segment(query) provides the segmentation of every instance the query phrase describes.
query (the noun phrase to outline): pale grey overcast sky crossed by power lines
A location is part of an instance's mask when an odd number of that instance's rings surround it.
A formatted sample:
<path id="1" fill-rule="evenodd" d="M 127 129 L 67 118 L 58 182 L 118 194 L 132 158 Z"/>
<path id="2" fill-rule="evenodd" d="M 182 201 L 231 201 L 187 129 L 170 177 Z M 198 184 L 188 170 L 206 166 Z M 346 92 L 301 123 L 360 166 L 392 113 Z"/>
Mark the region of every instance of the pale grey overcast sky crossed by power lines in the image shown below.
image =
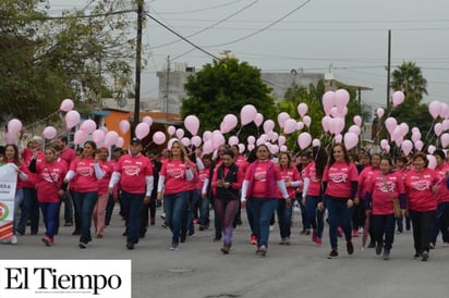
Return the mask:
<path id="1" fill-rule="evenodd" d="M 50 0 L 50 14 L 89 2 Z M 449 103 L 448 0 L 146 0 L 145 7 L 211 54 L 229 50 L 264 72 L 330 71 L 336 79 L 373 88 L 362 95 L 373 107 L 387 101 L 391 29 L 392 70 L 414 61 L 428 83 L 425 100 Z M 211 61 L 151 20 L 144 42 L 142 97 L 157 97 L 156 72 L 168 55 L 196 67 Z"/>

